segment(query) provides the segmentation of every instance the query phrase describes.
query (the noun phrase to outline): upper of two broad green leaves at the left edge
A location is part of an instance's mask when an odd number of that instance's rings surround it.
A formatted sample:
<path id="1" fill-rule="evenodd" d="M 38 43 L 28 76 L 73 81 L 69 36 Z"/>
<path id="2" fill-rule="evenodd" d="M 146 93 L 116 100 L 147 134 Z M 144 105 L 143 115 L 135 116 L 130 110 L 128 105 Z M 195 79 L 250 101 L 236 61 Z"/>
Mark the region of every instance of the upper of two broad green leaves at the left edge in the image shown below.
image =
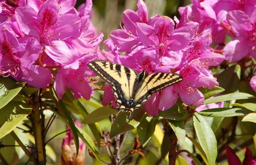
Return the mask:
<path id="1" fill-rule="evenodd" d="M 24 85 L 25 82 L 16 82 L 10 77 L 0 76 L 0 109 L 8 104 Z"/>

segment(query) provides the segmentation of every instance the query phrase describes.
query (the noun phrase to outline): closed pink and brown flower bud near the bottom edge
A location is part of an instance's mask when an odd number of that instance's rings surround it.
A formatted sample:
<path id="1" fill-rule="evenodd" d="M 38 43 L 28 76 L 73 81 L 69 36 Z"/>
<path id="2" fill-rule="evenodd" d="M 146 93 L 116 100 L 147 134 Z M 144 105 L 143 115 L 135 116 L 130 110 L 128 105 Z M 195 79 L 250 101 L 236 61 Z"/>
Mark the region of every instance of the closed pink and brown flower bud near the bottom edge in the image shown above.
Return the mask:
<path id="1" fill-rule="evenodd" d="M 75 124 L 80 128 L 82 127 L 77 121 L 75 121 Z M 68 129 L 70 128 L 68 127 Z M 76 156 L 76 145 L 70 130 L 67 131 L 66 136 L 63 138 L 61 151 L 62 165 L 83 165 L 85 162 L 85 143 L 79 138 L 79 150 Z"/>

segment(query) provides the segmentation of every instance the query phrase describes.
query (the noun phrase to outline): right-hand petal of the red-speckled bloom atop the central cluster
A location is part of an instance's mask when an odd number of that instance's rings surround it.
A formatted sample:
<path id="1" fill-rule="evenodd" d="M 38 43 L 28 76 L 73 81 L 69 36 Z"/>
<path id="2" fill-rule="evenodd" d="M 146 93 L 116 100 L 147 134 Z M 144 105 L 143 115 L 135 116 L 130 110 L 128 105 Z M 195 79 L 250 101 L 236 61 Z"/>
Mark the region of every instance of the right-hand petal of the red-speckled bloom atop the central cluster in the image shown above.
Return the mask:
<path id="1" fill-rule="evenodd" d="M 188 27 L 181 27 L 175 29 L 173 35 L 170 37 L 170 42 L 168 43 L 168 47 L 171 47 L 172 51 L 178 51 L 186 47 L 193 37 L 193 29 Z"/>

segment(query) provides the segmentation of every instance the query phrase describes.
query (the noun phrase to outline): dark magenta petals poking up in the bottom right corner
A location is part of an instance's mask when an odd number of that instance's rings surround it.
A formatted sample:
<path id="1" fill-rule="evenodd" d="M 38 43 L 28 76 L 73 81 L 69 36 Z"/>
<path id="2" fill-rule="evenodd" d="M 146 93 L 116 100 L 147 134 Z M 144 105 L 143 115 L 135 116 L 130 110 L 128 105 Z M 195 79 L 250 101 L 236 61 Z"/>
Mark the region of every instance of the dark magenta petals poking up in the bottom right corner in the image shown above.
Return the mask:
<path id="1" fill-rule="evenodd" d="M 236 153 L 230 148 L 228 145 L 225 146 L 227 151 L 227 161 L 229 165 L 256 165 L 256 160 L 254 160 L 254 157 L 251 153 L 251 150 L 249 148 L 246 148 L 245 152 L 245 158 L 243 163 L 239 160 L 239 158 L 236 156 Z"/>

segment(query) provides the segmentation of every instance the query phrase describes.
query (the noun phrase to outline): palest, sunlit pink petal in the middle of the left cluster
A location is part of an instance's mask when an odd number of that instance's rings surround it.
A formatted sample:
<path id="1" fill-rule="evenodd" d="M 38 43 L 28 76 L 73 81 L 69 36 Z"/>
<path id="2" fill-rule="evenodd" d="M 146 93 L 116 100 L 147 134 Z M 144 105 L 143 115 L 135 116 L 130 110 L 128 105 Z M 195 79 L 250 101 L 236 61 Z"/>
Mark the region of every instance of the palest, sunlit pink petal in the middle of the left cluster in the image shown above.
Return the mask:
<path id="1" fill-rule="evenodd" d="M 60 64 L 71 64 L 79 56 L 76 48 L 64 41 L 56 40 L 52 42 L 52 45 L 54 46 L 45 46 L 45 52 Z"/>

